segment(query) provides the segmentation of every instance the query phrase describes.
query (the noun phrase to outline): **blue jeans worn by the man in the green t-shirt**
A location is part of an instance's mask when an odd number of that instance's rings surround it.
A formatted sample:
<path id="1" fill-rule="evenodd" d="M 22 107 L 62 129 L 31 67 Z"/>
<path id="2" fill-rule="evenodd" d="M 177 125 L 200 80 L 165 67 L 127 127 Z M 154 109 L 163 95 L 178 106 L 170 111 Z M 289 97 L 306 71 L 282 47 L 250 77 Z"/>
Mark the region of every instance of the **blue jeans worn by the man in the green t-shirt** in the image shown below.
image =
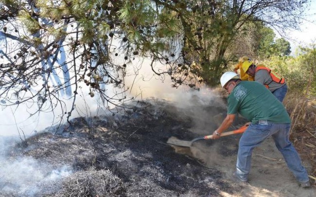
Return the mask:
<path id="1" fill-rule="evenodd" d="M 289 141 L 291 124 L 276 124 L 269 121 L 259 121 L 251 124 L 239 141 L 236 174 L 246 181 L 250 172 L 251 153 L 266 138 L 272 136 L 278 150 L 299 182 L 309 181 L 306 169 L 302 166 L 298 152 Z"/>

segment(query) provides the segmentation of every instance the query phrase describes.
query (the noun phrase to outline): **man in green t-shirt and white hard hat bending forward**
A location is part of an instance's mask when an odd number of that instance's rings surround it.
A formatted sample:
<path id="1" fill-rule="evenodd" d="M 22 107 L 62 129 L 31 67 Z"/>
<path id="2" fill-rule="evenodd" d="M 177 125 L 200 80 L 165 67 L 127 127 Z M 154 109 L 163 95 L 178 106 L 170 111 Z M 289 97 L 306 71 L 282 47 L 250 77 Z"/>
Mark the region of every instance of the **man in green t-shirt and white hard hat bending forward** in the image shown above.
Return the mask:
<path id="1" fill-rule="evenodd" d="M 234 179 L 243 182 L 248 180 L 253 148 L 271 136 L 300 185 L 310 187 L 307 171 L 289 141 L 291 119 L 282 103 L 262 84 L 241 81 L 235 72 L 225 72 L 221 77 L 221 85 L 229 93 L 228 114 L 213 132 L 213 139 L 220 137 L 238 113 L 251 122 L 239 141 Z"/>

